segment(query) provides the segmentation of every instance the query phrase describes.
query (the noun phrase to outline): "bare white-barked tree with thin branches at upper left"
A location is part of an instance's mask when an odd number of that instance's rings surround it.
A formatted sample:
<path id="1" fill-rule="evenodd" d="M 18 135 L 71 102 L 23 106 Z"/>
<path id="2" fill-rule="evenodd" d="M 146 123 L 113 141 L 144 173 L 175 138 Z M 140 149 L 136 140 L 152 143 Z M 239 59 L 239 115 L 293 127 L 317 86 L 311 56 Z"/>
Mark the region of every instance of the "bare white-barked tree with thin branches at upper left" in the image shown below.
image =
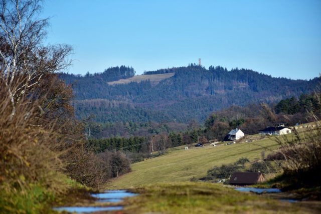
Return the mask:
<path id="1" fill-rule="evenodd" d="M 0 0 L 0 81 L 12 105 L 30 94 L 47 73 L 70 65 L 68 45 L 45 46 L 48 19 L 40 19 L 41 0 Z"/>

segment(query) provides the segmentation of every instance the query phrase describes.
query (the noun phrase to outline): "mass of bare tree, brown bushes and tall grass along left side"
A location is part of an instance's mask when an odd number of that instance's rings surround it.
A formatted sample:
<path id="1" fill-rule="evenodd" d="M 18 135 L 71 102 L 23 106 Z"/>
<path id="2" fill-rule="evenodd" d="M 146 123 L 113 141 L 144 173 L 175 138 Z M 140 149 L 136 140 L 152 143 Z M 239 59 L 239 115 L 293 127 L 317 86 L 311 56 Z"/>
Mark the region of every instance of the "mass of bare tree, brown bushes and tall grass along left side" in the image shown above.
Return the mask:
<path id="1" fill-rule="evenodd" d="M 2 213 L 44 212 L 46 202 L 71 187 L 63 173 L 97 187 L 112 176 L 113 157 L 119 173 L 129 170 L 123 155 L 106 154 L 111 159 L 104 161 L 85 148 L 83 123 L 73 117 L 72 89 L 54 73 L 69 65 L 71 49 L 43 46 L 48 23 L 37 19 L 40 2 L 0 1 Z"/>

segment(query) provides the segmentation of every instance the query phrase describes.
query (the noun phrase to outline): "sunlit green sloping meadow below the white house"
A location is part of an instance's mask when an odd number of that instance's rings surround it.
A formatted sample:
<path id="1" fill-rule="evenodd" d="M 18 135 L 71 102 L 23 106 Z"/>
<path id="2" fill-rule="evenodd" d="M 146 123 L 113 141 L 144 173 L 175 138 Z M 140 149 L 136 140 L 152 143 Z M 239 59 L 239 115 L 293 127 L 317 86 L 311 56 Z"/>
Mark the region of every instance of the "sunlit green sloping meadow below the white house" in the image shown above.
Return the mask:
<path id="1" fill-rule="evenodd" d="M 292 137 L 292 134 L 289 137 Z M 205 176 L 207 170 L 213 166 L 233 163 L 241 157 L 246 157 L 250 161 L 259 160 L 262 151 L 265 151 L 265 155 L 267 155 L 278 147 L 275 137 L 267 137 L 232 145 L 208 145 L 188 150 L 170 150 L 163 156 L 132 164 L 130 173 L 114 179 L 111 182 L 112 186 L 107 188 L 128 188 L 159 182 L 189 181 L 192 177 Z"/>

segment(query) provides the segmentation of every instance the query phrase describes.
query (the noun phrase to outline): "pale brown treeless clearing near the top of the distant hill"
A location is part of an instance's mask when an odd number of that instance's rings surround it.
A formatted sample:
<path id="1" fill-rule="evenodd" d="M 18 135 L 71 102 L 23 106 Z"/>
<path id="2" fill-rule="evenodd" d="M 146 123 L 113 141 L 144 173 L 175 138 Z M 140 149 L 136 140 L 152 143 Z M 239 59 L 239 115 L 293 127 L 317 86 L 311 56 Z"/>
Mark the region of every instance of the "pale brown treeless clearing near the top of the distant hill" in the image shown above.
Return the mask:
<path id="1" fill-rule="evenodd" d="M 139 83 L 139 82 L 145 81 L 145 80 L 149 80 L 152 85 L 157 85 L 162 80 L 165 80 L 165 79 L 168 79 L 170 77 L 173 77 L 174 75 L 175 75 L 175 73 L 152 74 L 152 75 L 137 75 L 137 76 L 133 76 L 133 77 L 128 78 L 128 79 L 121 79 L 121 80 L 118 80 L 118 81 L 109 82 L 108 85 L 127 84 L 127 83 L 130 83 L 130 82 Z"/>

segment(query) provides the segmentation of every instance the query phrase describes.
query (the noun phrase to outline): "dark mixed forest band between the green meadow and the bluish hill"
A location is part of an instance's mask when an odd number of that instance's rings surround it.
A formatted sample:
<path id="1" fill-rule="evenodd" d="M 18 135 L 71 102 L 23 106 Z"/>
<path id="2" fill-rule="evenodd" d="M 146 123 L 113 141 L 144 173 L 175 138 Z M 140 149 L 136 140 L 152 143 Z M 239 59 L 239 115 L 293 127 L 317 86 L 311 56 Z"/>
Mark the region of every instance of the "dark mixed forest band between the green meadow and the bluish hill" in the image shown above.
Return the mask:
<path id="1" fill-rule="evenodd" d="M 197 142 L 209 143 L 211 140 L 223 140 L 226 134 L 235 128 L 241 129 L 245 134 L 257 134 L 260 129 L 277 123 L 292 126 L 296 123 L 311 122 L 315 117 L 320 118 L 321 105 L 318 101 L 320 98 L 320 94 L 312 93 L 302 94 L 299 99 L 286 98 L 273 105 L 252 103 L 244 107 L 231 106 L 213 112 L 204 124 L 191 121 L 186 126 L 181 125 L 180 129 L 173 127 L 179 125 L 175 123 L 168 125 L 167 123 L 120 122 L 108 123 L 105 126 L 89 123 L 88 128 L 91 127 L 92 136 L 88 146 L 96 152 L 120 150 L 127 153 L 140 153 L 140 157 L 145 157 L 152 151 L 162 153 L 168 148 L 177 146 L 193 146 Z M 294 107 L 296 112 L 288 111 Z"/>

